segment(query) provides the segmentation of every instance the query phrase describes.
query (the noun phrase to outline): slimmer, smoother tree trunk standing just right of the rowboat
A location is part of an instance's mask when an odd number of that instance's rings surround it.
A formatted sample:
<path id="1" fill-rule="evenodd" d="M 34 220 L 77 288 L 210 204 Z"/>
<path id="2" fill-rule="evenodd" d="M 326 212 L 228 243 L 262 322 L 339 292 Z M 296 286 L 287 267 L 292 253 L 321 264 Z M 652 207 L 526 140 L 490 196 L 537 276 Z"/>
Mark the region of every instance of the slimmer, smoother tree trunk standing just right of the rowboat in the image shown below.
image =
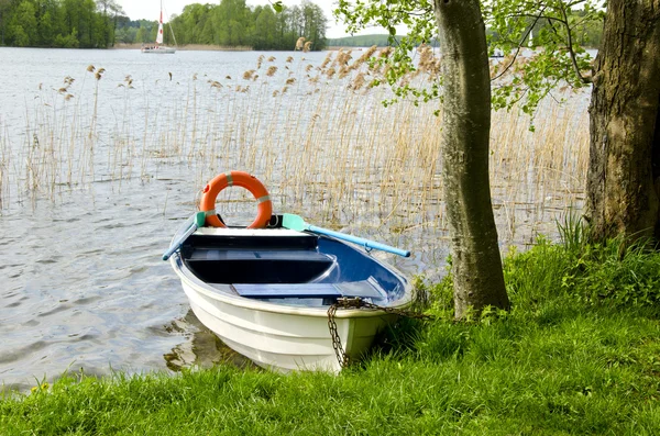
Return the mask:
<path id="1" fill-rule="evenodd" d="M 491 77 L 479 0 L 435 0 L 444 104 L 442 172 L 451 235 L 455 317 L 508 309 L 491 204 Z"/>

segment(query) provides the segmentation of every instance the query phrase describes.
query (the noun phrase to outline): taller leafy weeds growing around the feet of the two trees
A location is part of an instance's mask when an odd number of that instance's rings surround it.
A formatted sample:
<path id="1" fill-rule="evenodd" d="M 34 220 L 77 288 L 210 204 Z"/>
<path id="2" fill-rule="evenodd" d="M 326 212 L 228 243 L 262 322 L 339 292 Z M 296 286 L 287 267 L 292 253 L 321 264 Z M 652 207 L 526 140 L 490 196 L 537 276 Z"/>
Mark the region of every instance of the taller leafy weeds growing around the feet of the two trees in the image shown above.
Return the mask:
<path id="1" fill-rule="evenodd" d="M 505 258 L 507 293 L 516 310 L 534 313 L 541 302 L 559 299 L 566 305 L 625 308 L 660 315 L 660 253 L 650 243 L 590 243 L 582 222 L 570 215 L 559 228 L 560 244 L 540 236 L 529 251 L 512 247 Z M 425 289 L 430 301 L 427 313 L 452 320 L 451 275 Z"/>

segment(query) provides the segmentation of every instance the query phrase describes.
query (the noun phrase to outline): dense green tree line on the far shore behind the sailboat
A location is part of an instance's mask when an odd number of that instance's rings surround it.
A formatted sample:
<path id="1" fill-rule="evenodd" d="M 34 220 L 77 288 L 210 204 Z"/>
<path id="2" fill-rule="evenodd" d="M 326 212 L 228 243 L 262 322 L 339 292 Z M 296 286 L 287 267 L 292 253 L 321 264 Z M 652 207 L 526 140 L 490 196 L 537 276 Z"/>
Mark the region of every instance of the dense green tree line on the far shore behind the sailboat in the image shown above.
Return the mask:
<path id="1" fill-rule="evenodd" d="M 158 11 L 154 11 L 157 18 Z M 328 20 L 309 1 L 276 12 L 245 0 L 188 4 L 168 23 L 166 44 L 202 44 L 253 49 L 293 49 L 305 37 L 309 49 L 326 47 Z M 0 45 L 106 48 L 116 43 L 155 41 L 157 21 L 130 20 L 114 0 L 0 0 Z M 173 36 L 173 34 L 175 36 Z M 176 37 L 176 41 L 174 41 Z"/>

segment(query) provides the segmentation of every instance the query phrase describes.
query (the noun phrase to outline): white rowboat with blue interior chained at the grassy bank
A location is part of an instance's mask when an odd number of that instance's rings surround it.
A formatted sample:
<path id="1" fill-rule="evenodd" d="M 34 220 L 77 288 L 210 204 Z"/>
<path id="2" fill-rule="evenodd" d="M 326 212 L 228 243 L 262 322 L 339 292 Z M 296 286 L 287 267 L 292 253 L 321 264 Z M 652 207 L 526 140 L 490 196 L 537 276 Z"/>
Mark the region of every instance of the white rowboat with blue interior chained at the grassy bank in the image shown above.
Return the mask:
<path id="1" fill-rule="evenodd" d="M 234 186 L 241 186 L 240 172 L 227 174 Z M 213 202 L 216 195 L 211 192 Z M 268 214 L 264 226 L 252 228 L 216 227 L 207 222 L 217 217 L 216 210 L 205 211 L 204 204 L 179 227 L 163 258 L 199 321 L 261 367 L 337 373 L 369 350 L 396 320 L 393 312 L 410 304 L 407 278 L 372 249 L 409 251 L 292 214 Z"/>

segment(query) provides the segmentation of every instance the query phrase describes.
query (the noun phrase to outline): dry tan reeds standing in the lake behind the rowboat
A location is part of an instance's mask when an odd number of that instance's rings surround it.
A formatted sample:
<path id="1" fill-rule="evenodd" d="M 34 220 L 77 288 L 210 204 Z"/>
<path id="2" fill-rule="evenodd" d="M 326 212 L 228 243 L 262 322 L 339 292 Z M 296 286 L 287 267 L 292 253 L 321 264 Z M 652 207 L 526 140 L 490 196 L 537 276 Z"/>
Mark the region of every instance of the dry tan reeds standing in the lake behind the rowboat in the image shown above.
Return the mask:
<path id="1" fill-rule="evenodd" d="M 319 224 L 444 230 L 441 108 L 385 107 L 392 92 L 371 85 L 386 74 L 375 60 L 387 55 L 339 51 L 317 64 L 261 56 L 240 77 L 195 75 L 184 85 L 130 76 L 110 82 L 90 66 L 80 80 L 40 91 L 22 143 L 0 133 L 0 206 L 176 171 L 199 189 L 220 171 L 242 169 L 266 183 L 276 211 Z M 421 49 L 418 65 L 404 80 L 435 80 L 432 51 Z M 494 113 L 491 182 L 503 239 L 552 232 L 559 214 L 582 206 L 586 96 L 564 97 L 563 104 L 542 102 L 534 132 L 515 108 Z M 251 201 L 243 192 L 223 195 L 229 213 Z"/>

